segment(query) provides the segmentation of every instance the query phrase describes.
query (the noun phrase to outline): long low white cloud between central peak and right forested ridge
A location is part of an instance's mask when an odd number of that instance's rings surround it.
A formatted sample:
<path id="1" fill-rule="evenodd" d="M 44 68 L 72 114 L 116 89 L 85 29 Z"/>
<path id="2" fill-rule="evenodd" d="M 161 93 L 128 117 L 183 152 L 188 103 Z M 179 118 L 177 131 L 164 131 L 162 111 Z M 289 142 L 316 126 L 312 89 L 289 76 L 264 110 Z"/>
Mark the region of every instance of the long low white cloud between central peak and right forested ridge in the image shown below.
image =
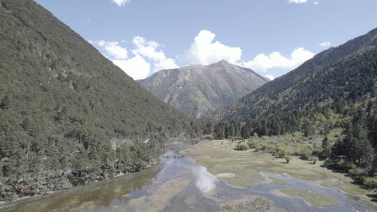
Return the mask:
<path id="1" fill-rule="evenodd" d="M 292 70 L 300 66 L 304 61 L 311 59 L 314 55 L 314 53 L 300 47 L 290 54 L 290 59 L 282 56 L 280 52 L 272 52 L 269 56 L 258 54 L 252 61 L 242 63 L 242 66 L 258 72 L 266 72 L 269 68 Z"/>

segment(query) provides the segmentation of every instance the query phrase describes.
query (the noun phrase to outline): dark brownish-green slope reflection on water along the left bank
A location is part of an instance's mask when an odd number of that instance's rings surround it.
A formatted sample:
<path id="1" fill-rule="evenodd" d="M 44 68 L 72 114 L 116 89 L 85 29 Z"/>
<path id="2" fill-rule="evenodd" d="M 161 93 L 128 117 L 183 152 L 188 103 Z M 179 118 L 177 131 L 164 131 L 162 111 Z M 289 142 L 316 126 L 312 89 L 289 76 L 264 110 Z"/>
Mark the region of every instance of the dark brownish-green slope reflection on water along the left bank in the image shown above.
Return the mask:
<path id="1" fill-rule="evenodd" d="M 82 211 L 109 205 L 114 199 L 124 199 L 133 190 L 140 190 L 153 183 L 161 165 L 143 172 L 127 174 L 116 179 L 101 181 L 70 190 L 61 190 L 52 195 L 32 197 L 4 205 L 0 211 Z"/>

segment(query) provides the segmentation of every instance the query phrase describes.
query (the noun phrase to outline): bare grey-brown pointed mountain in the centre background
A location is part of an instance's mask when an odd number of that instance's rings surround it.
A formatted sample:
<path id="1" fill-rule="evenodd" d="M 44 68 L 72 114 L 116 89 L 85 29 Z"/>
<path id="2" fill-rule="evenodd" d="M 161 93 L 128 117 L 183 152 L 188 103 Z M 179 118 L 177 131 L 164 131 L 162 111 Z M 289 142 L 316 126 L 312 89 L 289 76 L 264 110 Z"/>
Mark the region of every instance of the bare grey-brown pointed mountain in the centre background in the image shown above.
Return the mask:
<path id="1" fill-rule="evenodd" d="M 219 61 L 161 70 L 138 82 L 165 103 L 198 118 L 233 103 L 268 80 L 249 68 Z"/>

